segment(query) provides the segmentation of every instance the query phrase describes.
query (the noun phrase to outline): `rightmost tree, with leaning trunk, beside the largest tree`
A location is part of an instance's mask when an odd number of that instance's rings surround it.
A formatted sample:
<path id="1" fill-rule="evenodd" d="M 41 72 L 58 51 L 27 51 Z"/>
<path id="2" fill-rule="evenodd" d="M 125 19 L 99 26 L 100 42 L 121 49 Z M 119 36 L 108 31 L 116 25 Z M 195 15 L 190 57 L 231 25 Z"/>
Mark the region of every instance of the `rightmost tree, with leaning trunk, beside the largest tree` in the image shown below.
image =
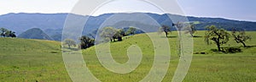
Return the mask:
<path id="1" fill-rule="evenodd" d="M 244 47 L 247 47 L 245 41 L 251 40 L 251 36 L 247 36 L 244 30 L 232 30 L 232 36 L 237 43 L 241 43 Z"/>

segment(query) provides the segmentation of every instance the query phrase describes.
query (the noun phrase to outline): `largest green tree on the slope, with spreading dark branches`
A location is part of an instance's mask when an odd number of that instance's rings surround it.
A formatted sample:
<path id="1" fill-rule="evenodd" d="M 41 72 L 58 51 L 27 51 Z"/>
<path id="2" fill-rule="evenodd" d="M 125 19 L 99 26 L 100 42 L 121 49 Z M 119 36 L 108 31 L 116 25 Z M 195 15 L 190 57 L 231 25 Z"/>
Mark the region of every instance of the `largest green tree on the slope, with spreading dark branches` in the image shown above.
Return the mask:
<path id="1" fill-rule="evenodd" d="M 226 44 L 230 39 L 230 34 L 224 29 L 218 29 L 215 25 L 207 26 L 205 41 L 209 44 L 214 41 L 218 46 L 218 52 L 221 51 L 220 46 Z"/>

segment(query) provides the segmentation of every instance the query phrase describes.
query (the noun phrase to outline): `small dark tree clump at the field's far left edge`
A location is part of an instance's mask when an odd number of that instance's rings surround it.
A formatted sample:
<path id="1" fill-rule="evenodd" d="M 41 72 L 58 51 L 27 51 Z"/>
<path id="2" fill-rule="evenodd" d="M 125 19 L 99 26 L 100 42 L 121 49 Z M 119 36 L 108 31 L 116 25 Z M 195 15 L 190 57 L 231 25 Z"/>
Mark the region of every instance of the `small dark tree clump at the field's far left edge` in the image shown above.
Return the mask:
<path id="1" fill-rule="evenodd" d="M 15 32 L 12 30 L 0 28 L 0 37 L 16 37 L 16 35 L 15 35 Z"/>

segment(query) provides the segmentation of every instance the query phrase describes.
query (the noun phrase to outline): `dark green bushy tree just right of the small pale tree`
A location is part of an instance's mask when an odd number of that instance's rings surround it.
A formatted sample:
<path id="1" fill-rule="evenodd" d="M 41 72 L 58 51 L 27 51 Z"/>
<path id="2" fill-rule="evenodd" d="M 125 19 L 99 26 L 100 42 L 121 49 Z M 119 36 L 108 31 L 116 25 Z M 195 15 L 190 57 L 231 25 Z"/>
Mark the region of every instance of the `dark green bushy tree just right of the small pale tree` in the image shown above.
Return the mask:
<path id="1" fill-rule="evenodd" d="M 90 46 L 94 46 L 95 40 L 94 39 L 90 39 L 90 37 L 88 36 L 82 36 L 80 39 L 80 47 L 81 49 L 86 49 Z"/>

